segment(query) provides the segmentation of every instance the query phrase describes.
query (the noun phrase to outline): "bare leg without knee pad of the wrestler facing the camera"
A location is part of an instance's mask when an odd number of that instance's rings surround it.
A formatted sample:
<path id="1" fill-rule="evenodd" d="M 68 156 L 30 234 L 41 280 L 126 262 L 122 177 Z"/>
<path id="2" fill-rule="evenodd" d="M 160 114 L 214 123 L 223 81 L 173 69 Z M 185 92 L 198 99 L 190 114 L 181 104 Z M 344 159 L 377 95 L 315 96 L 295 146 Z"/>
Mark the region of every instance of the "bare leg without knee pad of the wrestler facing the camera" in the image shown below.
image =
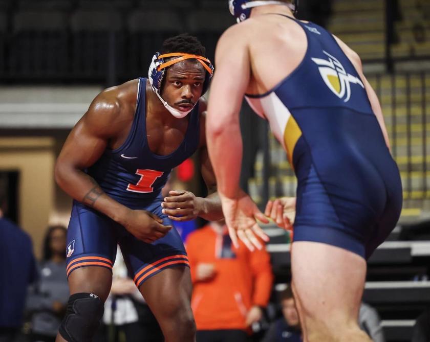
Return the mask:
<path id="1" fill-rule="evenodd" d="M 147 279 L 140 292 L 157 318 L 165 342 L 194 342 L 191 275 L 186 266 L 166 268 Z"/>

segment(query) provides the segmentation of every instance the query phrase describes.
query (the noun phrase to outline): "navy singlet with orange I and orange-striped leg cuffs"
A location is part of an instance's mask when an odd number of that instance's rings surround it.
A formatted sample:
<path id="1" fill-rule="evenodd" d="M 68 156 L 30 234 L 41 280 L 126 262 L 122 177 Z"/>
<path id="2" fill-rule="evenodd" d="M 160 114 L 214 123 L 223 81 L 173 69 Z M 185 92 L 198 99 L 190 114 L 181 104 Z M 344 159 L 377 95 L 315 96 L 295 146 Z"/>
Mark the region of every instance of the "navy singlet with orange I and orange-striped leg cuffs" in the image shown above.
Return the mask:
<path id="1" fill-rule="evenodd" d="M 146 210 L 172 225 L 161 212 L 161 189 L 171 169 L 189 158 L 198 148 L 200 135 L 199 105 L 189 113 L 185 138 L 169 155 L 157 155 L 149 149 L 146 136 L 146 78 L 139 79 L 136 114 L 127 139 L 121 147 L 106 149 L 86 172 L 103 191 L 131 209 Z M 67 276 L 82 266 L 112 269 L 117 243 L 134 276 L 137 286 L 161 270 L 187 265 L 185 248 L 173 228 L 153 243 L 145 243 L 127 232 L 123 226 L 102 213 L 74 201 L 68 229 Z"/>

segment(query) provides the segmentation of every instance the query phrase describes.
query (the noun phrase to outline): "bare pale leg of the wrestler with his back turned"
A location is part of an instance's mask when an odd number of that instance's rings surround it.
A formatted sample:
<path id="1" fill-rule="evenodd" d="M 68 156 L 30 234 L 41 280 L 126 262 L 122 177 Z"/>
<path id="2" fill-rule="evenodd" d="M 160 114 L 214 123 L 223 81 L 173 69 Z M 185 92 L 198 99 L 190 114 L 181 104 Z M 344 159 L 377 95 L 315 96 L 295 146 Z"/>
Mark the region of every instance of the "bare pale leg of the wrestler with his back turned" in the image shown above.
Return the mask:
<path id="1" fill-rule="evenodd" d="M 366 275 L 363 258 L 332 245 L 297 241 L 291 269 L 305 341 L 371 341 L 358 326 Z"/>

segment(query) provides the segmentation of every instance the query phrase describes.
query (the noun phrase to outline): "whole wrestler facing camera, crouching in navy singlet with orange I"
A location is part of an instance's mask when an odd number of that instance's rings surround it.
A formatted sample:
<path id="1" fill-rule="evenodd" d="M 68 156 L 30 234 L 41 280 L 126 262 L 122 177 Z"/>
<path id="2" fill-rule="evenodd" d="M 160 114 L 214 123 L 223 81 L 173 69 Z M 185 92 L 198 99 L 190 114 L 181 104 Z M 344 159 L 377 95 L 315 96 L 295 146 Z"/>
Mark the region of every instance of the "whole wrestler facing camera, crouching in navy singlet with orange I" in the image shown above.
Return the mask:
<path id="1" fill-rule="evenodd" d="M 173 220 L 222 215 L 205 143 L 205 93 L 213 67 L 197 38 L 163 43 L 149 77 L 101 92 L 71 131 L 55 168 L 74 198 L 68 229 L 71 297 L 56 341 L 89 342 L 103 314 L 117 243 L 166 341 L 195 340 L 188 260 Z M 200 149 L 210 195 L 160 191 Z"/>

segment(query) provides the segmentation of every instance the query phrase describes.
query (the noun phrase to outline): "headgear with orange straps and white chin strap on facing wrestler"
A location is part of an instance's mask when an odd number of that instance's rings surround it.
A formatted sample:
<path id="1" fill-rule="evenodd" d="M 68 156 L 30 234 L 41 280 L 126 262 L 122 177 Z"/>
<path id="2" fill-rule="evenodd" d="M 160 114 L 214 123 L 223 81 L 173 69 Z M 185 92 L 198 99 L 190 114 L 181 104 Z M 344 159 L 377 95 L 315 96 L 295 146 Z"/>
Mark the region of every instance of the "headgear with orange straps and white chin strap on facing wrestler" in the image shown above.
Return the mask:
<path id="1" fill-rule="evenodd" d="M 178 57 L 178 58 L 165 61 L 165 58 L 169 58 L 169 57 Z M 191 55 L 191 54 L 186 54 L 181 52 L 169 53 L 164 55 L 160 55 L 160 53 L 157 52 L 152 59 L 151 65 L 149 66 L 148 79 L 155 94 L 157 94 L 158 98 L 163 103 L 164 107 L 166 107 L 166 109 L 171 113 L 171 115 L 173 115 L 175 118 L 178 118 L 178 119 L 185 118 L 194 107 L 187 111 L 182 111 L 182 110 L 173 108 L 161 97 L 161 94 L 160 94 L 161 85 L 162 85 L 167 67 L 191 58 L 197 59 L 207 71 L 205 76 L 205 81 L 203 82 L 203 91 L 202 91 L 202 96 L 203 96 L 206 93 L 207 88 L 209 87 L 209 82 L 210 82 L 210 79 L 212 78 L 213 70 L 214 70 L 213 65 L 209 59 L 199 55 Z"/>

